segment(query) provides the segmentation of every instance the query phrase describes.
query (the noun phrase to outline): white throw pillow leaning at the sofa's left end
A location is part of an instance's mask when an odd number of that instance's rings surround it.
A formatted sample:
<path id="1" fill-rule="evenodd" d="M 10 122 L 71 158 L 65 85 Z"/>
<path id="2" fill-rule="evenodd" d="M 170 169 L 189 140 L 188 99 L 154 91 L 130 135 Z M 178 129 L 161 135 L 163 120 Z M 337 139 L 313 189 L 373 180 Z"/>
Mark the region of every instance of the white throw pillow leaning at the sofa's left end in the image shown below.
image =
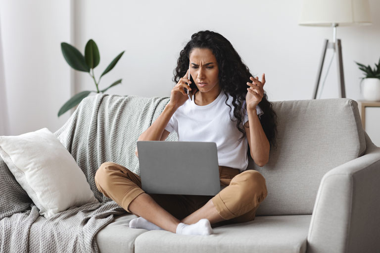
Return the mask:
<path id="1" fill-rule="evenodd" d="M 0 136 L 0 156 L 46 218 L 98 202 L 83 171 L 47 128 Z"/>

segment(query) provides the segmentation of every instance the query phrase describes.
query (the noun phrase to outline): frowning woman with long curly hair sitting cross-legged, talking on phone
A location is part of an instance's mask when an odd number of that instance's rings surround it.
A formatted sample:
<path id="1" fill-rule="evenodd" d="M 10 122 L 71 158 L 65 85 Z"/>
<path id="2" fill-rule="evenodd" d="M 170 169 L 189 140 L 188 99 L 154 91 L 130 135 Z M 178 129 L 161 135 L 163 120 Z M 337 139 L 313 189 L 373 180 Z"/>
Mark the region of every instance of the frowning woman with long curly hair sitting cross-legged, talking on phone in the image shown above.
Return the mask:
<path id="1" fill-rule="evenodd" d="M 195 85 L 188 79 L 189 71 Z M 214 197 L 146 194 L 137 174 L 112 162 L 96 171 L 97 188 L 138 216 L 130 221 L 132 228 L 209 235 L 211 224 L 253 220 L 267 188 L 260 172 L 246 170 L 247 155 L 264 166 L 277 135 L 276 113 L 263 89 L 265 75 L 261 82 L 253 78 L 226 38 L 200 31 L 180 52 L 173 81 L 177 84 L 169 103 L 139 140 L 163 141 L 175 130 L 179 141 L 215 142 L 225 188 Z"/>

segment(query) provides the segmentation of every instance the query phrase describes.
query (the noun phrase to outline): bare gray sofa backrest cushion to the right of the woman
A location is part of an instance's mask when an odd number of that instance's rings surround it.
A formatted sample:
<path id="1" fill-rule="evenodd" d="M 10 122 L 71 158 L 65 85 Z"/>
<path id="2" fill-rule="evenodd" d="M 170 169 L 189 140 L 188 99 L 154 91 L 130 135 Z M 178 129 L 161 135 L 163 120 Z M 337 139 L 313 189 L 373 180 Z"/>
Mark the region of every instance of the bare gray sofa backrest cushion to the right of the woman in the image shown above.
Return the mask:
<path id="1" fill-rule="evenodd" d="M 247 169 L 266 179 L 256 215 L 311 214 L 323 175 L 366 150 L 358 105 L 348 98 L 275 101 L 278 147 L 269 162 Z"/>

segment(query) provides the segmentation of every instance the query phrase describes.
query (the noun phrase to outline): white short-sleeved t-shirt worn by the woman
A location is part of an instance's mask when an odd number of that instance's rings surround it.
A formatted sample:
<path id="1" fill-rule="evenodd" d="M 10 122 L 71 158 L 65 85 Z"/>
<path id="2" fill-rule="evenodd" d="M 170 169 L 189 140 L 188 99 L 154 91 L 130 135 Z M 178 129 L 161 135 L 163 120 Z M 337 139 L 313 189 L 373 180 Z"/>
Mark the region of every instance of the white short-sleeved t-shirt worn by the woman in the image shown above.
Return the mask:
<path id="1" fill-rule="evenodd" d="M 165 130 L 176 131 L 178 141 L 215 142 L 219 166 L 239 169 L 241 172 L 248 166 L 248 140 L 246 137 L 238 140 L 243 134 L 236 127 L 236 121 L 230 119 L 230 107 L 225 104 L 226 98 L 222 90 L 210 104 L 200 106 L 195 104 L 193 95 L 192 100 L 188 99 L 177 109 Z M 229 96 L 228 104 L 235 120 L 232 99 Z M 242 106 L 245 106 L 245 101 Z M 259 117 L 264 113 L 259 106 L 256 110 Z M 245 112 L 243 124 L 247 121 L 248 115 Z"/>

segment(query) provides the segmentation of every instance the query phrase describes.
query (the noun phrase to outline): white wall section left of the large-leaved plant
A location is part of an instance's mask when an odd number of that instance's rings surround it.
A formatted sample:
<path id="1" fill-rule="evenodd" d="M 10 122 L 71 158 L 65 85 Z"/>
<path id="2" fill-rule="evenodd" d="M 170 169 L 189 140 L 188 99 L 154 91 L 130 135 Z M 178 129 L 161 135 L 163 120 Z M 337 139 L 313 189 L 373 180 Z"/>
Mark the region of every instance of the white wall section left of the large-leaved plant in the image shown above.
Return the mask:
<path id="1" fill-rule="evenodd" d="M 54 132 L 70 116 L 57 118 L 70 97 L 70 68 L 60 49 L 70 40 L 70 2 L 1 0 L 0 19 L 9 135 Z"/>

